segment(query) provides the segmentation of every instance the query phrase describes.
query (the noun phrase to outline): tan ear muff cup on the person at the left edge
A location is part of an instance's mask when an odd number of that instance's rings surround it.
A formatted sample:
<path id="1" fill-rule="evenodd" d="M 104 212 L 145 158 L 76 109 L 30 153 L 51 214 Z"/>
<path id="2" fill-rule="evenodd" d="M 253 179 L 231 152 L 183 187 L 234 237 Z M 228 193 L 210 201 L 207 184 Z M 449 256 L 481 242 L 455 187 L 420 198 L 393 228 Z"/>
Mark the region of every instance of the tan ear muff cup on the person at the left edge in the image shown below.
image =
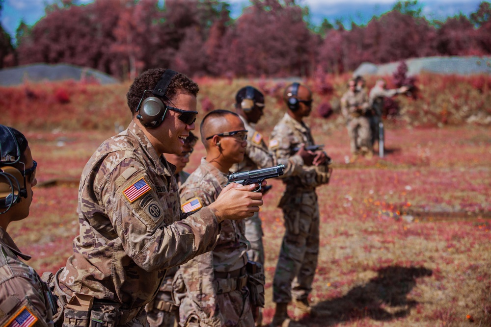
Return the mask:
<path id="1" fill-rule="evenodd" d="M 24 190 L 24 176 L 17 168 L 0 167 L 0 208 L 8 208 L 20 201 L 20 193 Z"/>

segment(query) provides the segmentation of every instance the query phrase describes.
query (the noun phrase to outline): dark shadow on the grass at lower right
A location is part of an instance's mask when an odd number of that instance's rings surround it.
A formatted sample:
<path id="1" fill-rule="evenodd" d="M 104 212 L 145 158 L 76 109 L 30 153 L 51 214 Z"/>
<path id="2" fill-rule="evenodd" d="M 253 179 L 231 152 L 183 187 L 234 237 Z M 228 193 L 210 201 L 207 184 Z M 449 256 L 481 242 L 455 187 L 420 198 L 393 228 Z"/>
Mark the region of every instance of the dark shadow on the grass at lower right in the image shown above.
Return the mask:
<path id="1" fill-rule="evenodd" d="M 371 318 L 390 321 L 409 315 L 418 302 L 407 296 L 416 285 L 416 278 L 431 276 L 424 267 L 385 267 L 365 285 L 354 287 L 340 298 L 319 302 L 313 309 L 315 317 L 299 321 L 303 326 L 332 326 L 342 322 Z"/>

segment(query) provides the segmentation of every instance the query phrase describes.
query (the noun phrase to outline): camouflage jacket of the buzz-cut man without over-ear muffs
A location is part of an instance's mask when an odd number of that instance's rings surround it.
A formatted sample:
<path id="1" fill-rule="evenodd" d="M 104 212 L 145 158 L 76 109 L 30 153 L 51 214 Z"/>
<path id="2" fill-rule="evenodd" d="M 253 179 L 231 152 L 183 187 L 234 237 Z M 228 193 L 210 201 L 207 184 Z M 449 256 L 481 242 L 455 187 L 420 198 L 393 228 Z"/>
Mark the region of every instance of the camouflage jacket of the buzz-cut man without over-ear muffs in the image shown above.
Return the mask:
<path id="1" fill-rule="evenodd" d="M 217 199 L 226 184 L 226 175 L 202 158 L 200 166 L 179 189 L 183 210 L 186 203 L 196 198 L 200 206 L 206 207 Z M 198 310 L 196 314 L 207 326 L 224 324 L 216 299 L 214 272 L 226 273 L 243 268 L 247 263 L 247 249 L 250 248 L 244 236 L 244 220 L 224 220 L 220 225 L 220 237 L 215 249 L 179 268 L 187 288 L 186 299 L 181 302 L 181 306 L 188 307 L 187 302 L 195 303 L 194 309 Z"/>

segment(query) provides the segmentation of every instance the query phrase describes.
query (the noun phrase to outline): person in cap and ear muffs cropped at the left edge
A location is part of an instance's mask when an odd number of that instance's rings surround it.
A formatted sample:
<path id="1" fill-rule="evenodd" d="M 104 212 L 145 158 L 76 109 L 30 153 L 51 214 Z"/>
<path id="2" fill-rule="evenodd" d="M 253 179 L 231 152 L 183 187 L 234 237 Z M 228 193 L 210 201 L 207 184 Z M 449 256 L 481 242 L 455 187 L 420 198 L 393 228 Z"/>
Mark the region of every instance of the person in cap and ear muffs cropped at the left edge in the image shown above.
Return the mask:
<path id="1" fill-rule="evenodd" d="M 0 125 L 0 326 L 53 327 L 51 292 L 7 233 L 29 215 L 36 166 L 26 137 Z"/>

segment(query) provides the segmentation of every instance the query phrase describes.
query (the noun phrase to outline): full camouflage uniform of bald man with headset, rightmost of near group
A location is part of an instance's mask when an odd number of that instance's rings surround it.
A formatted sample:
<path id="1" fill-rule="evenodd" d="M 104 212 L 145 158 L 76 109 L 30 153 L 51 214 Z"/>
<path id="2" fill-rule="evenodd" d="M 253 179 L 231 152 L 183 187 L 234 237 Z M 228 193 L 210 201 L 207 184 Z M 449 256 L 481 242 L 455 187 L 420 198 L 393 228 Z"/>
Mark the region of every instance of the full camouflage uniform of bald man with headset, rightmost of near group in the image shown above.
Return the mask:
<path id="1" fill-rule="evenodd" d="M 278 159 L 288 158 L 300 143 L 315 144 L 310 128 L 286 113 L 274 126 L 270 150 Z M 312 290 L 319 254 L 318 184 L 314 167 L 304 167 L 300 175 L 282 180 L 286 189 L 279 207 L 283 210 L 285 235 L 274 273 L 273 301 L 291 302 L 292 296 L 306 299 Z"/>

